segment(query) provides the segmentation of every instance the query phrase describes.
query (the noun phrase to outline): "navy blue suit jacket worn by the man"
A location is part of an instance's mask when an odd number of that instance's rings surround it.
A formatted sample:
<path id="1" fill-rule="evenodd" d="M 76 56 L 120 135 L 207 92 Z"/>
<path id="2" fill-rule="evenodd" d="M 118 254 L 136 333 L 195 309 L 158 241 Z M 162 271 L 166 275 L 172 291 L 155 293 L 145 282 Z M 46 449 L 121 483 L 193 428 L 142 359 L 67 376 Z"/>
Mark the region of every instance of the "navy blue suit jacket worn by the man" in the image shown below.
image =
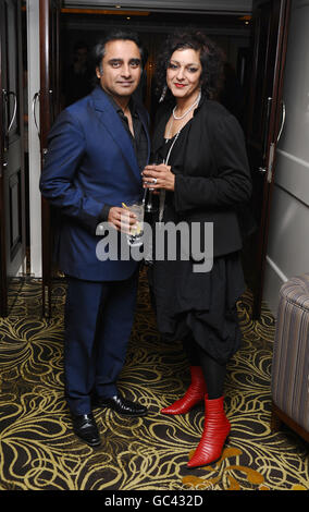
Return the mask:
<path id="1" fill-rule="evenodd" d="M 137 103 L 148 137 L 148 113 Z M 40 179 L 42 195 L 61 210 L 58 263 L 66 275 L 90 281 L 127 279 L 134 260 L 97 258 L 96 228 L 104 205 L 121 206 L 143 195 L 129 135 L 108 95 L 96 87 L 61 112 L 49 134 Z"/>

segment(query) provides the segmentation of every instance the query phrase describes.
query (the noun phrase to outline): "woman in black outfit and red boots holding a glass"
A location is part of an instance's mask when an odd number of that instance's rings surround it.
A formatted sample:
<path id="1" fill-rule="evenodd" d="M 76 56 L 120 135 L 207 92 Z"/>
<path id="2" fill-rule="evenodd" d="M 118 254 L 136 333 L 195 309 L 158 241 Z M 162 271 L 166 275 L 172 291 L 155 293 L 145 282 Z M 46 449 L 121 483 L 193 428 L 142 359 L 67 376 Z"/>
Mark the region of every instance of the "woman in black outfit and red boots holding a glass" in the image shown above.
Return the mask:
<path id="1" fill-rule="evenodd" d="M 213 223 L 211 269 L 197 269 L 194 252 L 184 258 L 180 247 L 176 260 L 156 260 L 153 251 L 150 268 L 158 329 L 183 341 L 191 374 L 185 395 L 161 412 L 184 414 L 205 400 L 203 432 L 188 462 L 196 467 L 221 456 L 231 429 L 223 388 L 226 363 L 240 344 L 236 301 L 245 290 L 237 209 L 249 200 L 251 181 L 242 129 L 211 99 L 222 76 L 217 46 L 201 33 L 170 36 L 157 73 L 164 98 L 153 134 L 157 164 L 143 172 L 144 186 L 160 194 L 154 220 L 161 228 L 186 222 L 189 232 L 198 222 L 201 240 L 205 223 Z"/>

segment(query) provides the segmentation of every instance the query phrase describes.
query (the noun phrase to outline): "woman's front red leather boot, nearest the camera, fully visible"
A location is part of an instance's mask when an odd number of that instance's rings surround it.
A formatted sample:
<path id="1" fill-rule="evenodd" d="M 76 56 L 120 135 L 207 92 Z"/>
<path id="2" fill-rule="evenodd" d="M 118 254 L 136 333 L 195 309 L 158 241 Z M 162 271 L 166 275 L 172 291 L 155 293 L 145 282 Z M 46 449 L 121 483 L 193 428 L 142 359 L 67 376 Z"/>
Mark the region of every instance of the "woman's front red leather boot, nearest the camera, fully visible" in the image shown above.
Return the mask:
<path id="1" fill-rule="evenodd" d="M 188 467 L 199 467 L 218 461 L 230 434 L 231 424 L 225 416 L 223 397 L 205 400 L 205 427 L 199 444 L 189 460 Z"/>

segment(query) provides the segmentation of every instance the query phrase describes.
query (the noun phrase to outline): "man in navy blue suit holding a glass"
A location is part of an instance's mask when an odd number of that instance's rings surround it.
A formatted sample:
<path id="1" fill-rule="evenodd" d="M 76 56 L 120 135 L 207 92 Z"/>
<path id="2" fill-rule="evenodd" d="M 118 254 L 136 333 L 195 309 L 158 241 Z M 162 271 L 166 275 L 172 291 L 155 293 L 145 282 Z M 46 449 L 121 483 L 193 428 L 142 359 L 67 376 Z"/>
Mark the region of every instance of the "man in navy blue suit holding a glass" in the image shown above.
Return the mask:
<path id="1" fill-rule="evenodd" d="M 148 162 L 148 114 L 134 99 L 143 49 L 136 34 L 111 33 L 95 48 L 97 86 L 64 109 L 49 134 L 42 195 L 61 210 L 59 266 L 67 278 L 65 395 L 75 434 L 89 446 L 100 436 L 92 407 L 144 416 L 144 405 L 116 387 L 136 306 L 138 263 L 99 260 L 97 225 L 124 236 L 135 222 L 122 203 L 143 195 Z"/>

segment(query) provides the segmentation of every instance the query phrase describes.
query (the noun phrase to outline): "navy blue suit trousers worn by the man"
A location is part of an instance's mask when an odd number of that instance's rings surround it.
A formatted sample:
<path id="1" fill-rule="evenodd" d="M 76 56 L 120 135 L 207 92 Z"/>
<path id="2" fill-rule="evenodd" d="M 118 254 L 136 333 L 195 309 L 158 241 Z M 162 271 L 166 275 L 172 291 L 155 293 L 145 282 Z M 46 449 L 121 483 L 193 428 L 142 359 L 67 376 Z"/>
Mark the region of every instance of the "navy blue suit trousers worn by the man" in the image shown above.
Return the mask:
<path id="1" fill-rule="evenodd" d="M 113 397 L 125 362 L 138 272 L 124 281 L 67 277 L 64 334 L 65 398 L 72 414 L 89 414 L 90 397 Z"/>

